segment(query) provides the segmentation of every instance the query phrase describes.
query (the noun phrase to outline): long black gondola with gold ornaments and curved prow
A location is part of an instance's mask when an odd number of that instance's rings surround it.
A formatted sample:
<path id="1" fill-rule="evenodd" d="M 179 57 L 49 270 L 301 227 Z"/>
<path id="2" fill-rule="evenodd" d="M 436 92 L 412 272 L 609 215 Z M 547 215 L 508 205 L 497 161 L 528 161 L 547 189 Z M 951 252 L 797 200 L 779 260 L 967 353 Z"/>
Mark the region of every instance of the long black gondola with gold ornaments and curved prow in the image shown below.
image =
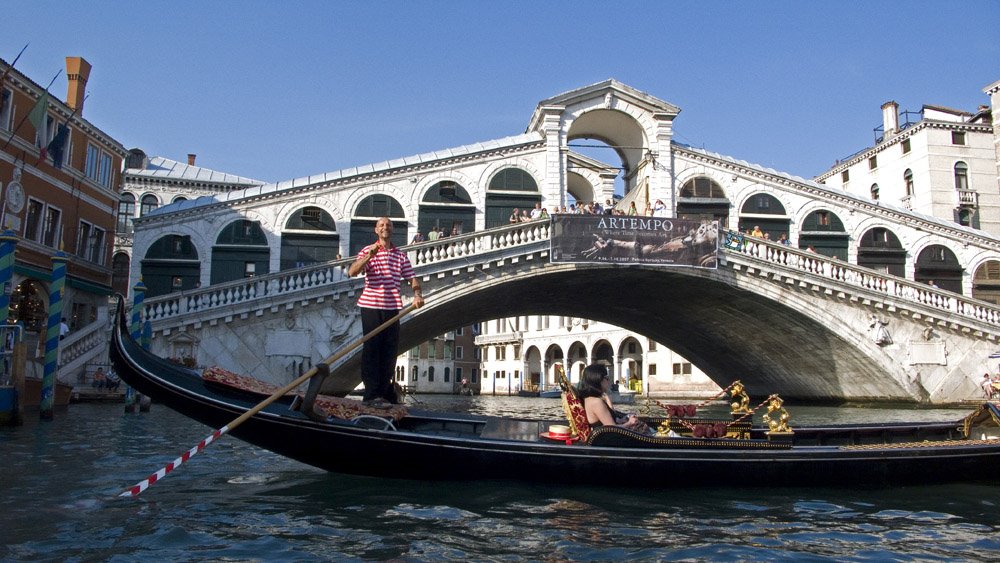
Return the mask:
<path id="1" fill-rule="evenodd" d="M 120 310 L 124 310 L 123 307 Z M 139 392 L 219 428 L 261 402 L 253 389 L 206 379 L 142 349 L 116 317 L 116 372 Z M 885 487 L 997 481 L 1000 409 L 984 403 L 962 420 L 795 427 L 675 416 L 646 418 L 679 436 L 619 427 L 549 432 L 567 420 L 527 420 L 416 408 L 398 417 L 314 420 L 282 397 L 231 433 L 332 472 L 406 479 L 516 479 L 601 486 Z M 343 399 L 343 401 L 349 401 Z M 683 409 L 681 409 L 683 410 Z M 675 413 L 676 414 L 676 413 Z M 736 422 L 734 422 L 736 421 Z M 778 422 L 778 421 L 772 421 Z M 666 424 L 666 426 L 664 426 Z M 721 425 L 721 426 L 720 426 Z M 719 437 L 711 437 L 711 428 Z M 699 429 L 702 431 L 699 432 Z"/>

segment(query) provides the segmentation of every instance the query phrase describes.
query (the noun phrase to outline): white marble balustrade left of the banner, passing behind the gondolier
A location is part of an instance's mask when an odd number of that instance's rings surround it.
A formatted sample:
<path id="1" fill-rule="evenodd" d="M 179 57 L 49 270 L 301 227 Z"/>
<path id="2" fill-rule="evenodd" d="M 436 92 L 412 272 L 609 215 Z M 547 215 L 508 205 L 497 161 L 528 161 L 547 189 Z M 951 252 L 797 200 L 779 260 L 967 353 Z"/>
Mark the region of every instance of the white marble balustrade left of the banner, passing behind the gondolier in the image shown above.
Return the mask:
<path id="1" fill-rule="evenodd" d="M 436 241 L 422 242 L 404 248 L 413 267 L 419 273 L 422 269 L 433 269 L 437 263 L 456 258 L 482 255 L 548 241 L 549 225 L 548 221 L 518 223 L 446 237 Z M 353 260 L 353 258 L 347 258 L 245 280 L 215 284 L 203 289 L 171 293 L 147 299 L 144 305 L 149 320 L 157 323 L 189 315 L 203 314 L 206 317 L 211 317 L 213 311 L 247 304 L 265 297 L 272 298 L 272 304 L 283 300 L 290 301 L 305 290 L 329 287 L 341 282 L 345 284 L 345 288 L 350 287 L 350 284 L 360 284 L 360 278 L 351 280 L 347 275 L 347 268 Z"/>

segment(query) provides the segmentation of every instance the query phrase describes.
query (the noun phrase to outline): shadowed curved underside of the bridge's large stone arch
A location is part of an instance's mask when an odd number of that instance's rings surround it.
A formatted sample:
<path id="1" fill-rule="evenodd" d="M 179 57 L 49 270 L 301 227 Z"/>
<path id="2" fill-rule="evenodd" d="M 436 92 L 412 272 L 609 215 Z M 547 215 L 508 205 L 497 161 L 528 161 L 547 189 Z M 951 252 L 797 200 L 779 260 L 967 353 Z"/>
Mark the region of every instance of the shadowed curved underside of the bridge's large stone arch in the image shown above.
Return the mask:
<path id="1" fill-rule="evenodd" d="M 716 383 L 741 379 L 757 394 L 823 401 L 845 389 L 871 399 L 905 400 L 919 393 L 905 377 L 886 377 L 900 371 L 891 351 L 851 328 L 868 319 L 858 311 L 845 313 L 849 303 L 821 315 L 810 288 L 782 295 L 777 288 L 741 288 L 746 281 L 738 278 L 728 269 L 545 264 L 500 279 L 475 276 L 458 291 L 438 292 L 429 280 L 424 282 L 430 288 L 428 305 L 404 321 L 400 349 L 456 323 L 576 316 L 644 334 L 697 364 Z M 648 290 L 617 292 L 623 286 Z M 614 295 L 615 307 L 607 306 L 608 295 Z M 890 325 L 893 329 L 900 327 Z M 357 355 L 336 366 L 339 376 L 330 379 L 341 383 L 327 391 L 353 388 L 358 381 L 349 374 L 359 366 Z"/>

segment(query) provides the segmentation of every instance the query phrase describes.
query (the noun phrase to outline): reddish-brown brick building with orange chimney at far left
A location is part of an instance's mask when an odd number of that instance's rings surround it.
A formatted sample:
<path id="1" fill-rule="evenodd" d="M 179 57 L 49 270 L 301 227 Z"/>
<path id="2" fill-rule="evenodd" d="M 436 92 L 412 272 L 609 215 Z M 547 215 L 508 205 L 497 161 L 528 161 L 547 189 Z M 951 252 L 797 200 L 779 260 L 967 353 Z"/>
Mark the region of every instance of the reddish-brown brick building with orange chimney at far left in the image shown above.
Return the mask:
<path id="1" fill-rule="evenodd" d="M 62 304 L 70 330 L 107 316 L 126 153 L 84 117 L 90 71 L 86 60 L 66 57 L 62 101 L 0 61 L 0 224 L 17 237 L 8 318 L 23 324 L 29 343 L 45 330 L 60 250 L 67 258 Z"/>

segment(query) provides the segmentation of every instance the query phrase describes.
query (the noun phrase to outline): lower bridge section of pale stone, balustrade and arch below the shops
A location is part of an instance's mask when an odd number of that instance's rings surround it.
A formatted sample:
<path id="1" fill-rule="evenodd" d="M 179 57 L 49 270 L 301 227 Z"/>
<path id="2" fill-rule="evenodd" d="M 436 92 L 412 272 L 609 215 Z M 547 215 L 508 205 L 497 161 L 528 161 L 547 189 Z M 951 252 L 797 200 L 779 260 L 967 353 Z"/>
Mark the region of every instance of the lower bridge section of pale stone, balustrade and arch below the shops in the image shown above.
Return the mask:
<path id="1" fill-rule="evenodd" d="M 1000 336 L 991 304 L 759 239 L 724 245 L 717 269 L 552 263 L 545 220 L 408 251 L 427 305 L 403 322 L 402 350 L 476 321 L 575 316 L 649 335 L 758 393 L 953 402 L 976 396 Z M 287 382 L 360 337 L 348 262 L 152 299 L 153 349 Z M 336 366 L 331 392 L 359 382 L 357 364 Z"/>

